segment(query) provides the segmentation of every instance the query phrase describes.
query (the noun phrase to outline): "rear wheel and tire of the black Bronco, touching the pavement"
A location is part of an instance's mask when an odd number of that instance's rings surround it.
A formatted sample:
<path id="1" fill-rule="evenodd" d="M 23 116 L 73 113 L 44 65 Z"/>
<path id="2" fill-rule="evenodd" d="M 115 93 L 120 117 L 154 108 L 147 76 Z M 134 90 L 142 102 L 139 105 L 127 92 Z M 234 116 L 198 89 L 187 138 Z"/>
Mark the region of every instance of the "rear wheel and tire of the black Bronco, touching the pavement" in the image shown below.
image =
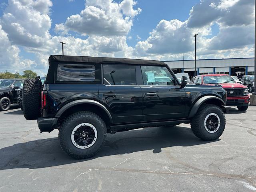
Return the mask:
<path id="1" fill-rule="evenodd" d="M 62 150 L 75 159 L 94 156 L 106 141 L 107 128 L 98 115 L 80 111 L 62 123 L 59 140 Z"/>

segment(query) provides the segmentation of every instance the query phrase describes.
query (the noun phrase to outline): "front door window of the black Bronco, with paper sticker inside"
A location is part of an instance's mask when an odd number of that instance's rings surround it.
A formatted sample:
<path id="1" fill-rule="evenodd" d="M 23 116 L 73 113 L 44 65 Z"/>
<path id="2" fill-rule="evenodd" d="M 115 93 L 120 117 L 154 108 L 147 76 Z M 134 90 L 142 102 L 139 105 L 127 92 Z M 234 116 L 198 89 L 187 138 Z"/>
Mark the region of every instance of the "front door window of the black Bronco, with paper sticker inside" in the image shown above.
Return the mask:
<path id="1" fill-rule="evenodd" d="M 166 67 L 141 66 L 144 85 L 174 85 L 174 78 Z"/>

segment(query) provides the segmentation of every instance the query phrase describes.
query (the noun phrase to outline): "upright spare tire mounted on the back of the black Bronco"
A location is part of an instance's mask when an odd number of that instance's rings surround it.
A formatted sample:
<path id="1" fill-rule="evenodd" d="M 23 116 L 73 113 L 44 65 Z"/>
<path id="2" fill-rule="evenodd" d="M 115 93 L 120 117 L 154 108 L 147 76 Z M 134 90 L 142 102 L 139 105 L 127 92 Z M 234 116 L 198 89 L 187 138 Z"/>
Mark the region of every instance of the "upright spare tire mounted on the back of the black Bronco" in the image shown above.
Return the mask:
<path id="1" fill-rule="evenodd" d="M 36 79 L 26 79 L 22 91 L 22 107 L 26 120 L 36 120 L 40 116 L 40 91 L 42 82 Z"/>

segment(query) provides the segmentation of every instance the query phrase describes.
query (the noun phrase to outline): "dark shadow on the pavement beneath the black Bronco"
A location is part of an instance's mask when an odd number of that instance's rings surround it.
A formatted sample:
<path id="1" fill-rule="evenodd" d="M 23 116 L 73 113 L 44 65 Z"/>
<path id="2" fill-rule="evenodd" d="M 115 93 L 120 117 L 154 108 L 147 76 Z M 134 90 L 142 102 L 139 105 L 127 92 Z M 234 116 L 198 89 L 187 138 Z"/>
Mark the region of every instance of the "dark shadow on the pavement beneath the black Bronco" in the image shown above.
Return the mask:
<path id="1" fill-rule="evenodd" d="M 0 170 L 61 166 L 76 162 L 85 162 L 98 157 L 128 154 L 145 150 L 160 153 L 162 152 L 162 148 L 196 146 L 210 142 L 200 140 L 187 127 L 143 128 L 128 132 L 118 132 L 114 135 L 108 134 L 105 145 L 96 156 L 83 160 L 75 160 L 64 154 L 60 148 L 58 138 L 40 139 L 17 143 L 0 149 Z"/>

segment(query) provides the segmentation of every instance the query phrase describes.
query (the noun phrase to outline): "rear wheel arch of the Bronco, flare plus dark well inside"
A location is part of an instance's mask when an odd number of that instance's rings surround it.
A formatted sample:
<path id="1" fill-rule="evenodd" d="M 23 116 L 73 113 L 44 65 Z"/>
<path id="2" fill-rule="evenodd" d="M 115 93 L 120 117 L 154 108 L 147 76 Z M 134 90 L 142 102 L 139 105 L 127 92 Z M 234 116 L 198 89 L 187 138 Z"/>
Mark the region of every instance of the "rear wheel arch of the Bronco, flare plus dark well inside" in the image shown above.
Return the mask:
<path id="1" fill-rule="evenodd" d="M 107 126 L 113 123 L 112 116 L 108 109 L 94 100 L 82 99 L 82 100 L 75 100 L 66 105 L 64 105 L 60 110 L 56 113 L 55 118 L 59 120 L 63 120 L 70 114 L 78 111 L 90 111 L 98 116 L 100 116 Z"/>

